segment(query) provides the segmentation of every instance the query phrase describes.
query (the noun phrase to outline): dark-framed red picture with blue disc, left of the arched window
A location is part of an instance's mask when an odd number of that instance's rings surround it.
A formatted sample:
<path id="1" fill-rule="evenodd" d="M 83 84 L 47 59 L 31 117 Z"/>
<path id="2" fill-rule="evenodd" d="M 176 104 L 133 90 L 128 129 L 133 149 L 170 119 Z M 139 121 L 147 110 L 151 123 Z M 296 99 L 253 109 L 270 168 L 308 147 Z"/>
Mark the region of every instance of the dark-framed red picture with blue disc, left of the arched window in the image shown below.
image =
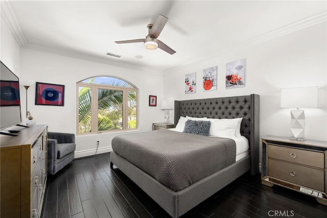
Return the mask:
<path id="1" fill-rule="evenodd" d="M 35 104 L 63 106 L 64 91 L 64 85 L 36 82 Z"/>

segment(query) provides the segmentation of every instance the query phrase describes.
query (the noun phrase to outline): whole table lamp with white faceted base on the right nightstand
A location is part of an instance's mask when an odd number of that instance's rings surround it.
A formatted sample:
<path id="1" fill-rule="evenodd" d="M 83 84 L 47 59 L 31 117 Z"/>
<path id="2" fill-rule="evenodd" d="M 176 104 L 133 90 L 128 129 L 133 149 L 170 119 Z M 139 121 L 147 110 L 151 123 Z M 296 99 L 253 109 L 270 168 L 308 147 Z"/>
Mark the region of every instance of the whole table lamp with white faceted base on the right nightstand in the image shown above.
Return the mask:
<path id="1" fill-rule="evenodd" d="M 296 140 L 305 140 L 305 111 L 299 108 L 318 107 L 318 86 L 281 89 L 281 107 L 291 110 L 291 133 Z"/>

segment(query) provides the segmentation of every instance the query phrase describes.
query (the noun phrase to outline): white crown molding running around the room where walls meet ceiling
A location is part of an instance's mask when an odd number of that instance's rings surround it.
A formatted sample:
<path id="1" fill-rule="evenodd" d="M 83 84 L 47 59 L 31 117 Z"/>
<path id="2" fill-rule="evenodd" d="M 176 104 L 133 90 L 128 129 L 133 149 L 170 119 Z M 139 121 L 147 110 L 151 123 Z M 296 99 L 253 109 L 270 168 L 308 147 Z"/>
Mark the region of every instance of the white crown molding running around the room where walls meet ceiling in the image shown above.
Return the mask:
<path id="1" fill-rule="evenodd" d="M 268 41 L 268 40 L 271 40 L 271 39 L 274 39 L 274 38 L 277 38 L 277 37 L 280 37 L 280 36 L 283 36 L 283 35 L 298 31 L 298 30 L 301 30 L 303 28 L 307 28 L 312 25 L 316 25 L 317 23 L 324 22 L 327 20 L 327 10 L 324 10 L 324 11 L 317 13 L 315 15 L 312 15 L 310 17 L 298 20 L 296 22 L 290 23 L 289 25 L 286 25 L 284 27 L 269 31 L 267 33 L 256 36 L 254 38 L 245 40 L 241 43 L 225 47 L 224 49 L 221 49 L 215 53 L 211 53 L 211 54 L 202 56 L 195 60 L 183 63 L 183 64 L 175 66 L 175 67 L 171 67 L 166 70 L 158 70 L 158 69 L 151 68 L 151 67 L 122 63 L 119 61 L 107 60 L 104 58 L 95 57 L 95 56 L 91 56 L 91 55 L 86 55 L 86 54 L 81 54 L 81 53 L 76 53 L 76 52 L 68 52 L 65 50 L 59 50 L 54 47 L 29 43 L 29 42 L 27 42 L 24 34 L 22 33 L 22 31 L 19 27 L 19 24 L 15 18 L 15 15 L 10 8 L 8 0 L 1 1 L 1 17 L 3 17 L 3 19 L 7 23 L 10 31 L 12 32 L 14 38 L 16 39 L 18 45 L 21 48 L 40 51 L 40 52 L 46 52 L 46 53 L 51 53 L 51 54 L 56 54 L 56 55 L 61 55 L 61 56 L 67 56 L 67 57 L 72 57 L 72 58 L 78 58 L 78 59 L 87 60 L 87 61 L 110 64 L 110 65 L 114 65 L 114 66 L 125 67 L 125 68 L 130 68 L 130 69 L 135 69 L 135 70 L 146 70 L 146 71 L 156 70 L 156 71 L 165 72 L 165 71 L 168 71 L 168 70 L 171 70 L 174 68 L 181 68 L 181 67 L 195 64 L 195 63 L 207 60 L 207 59 L 219 57 L 228 52 L 235 51 L 236 49 L 238 49 L 238 50 L 245 49 L 246 47 L 250 47 L 255 44 L 259 44 L 259 43 L 262 43 L 262 42 L 265 42 L 265 41 Z"/>

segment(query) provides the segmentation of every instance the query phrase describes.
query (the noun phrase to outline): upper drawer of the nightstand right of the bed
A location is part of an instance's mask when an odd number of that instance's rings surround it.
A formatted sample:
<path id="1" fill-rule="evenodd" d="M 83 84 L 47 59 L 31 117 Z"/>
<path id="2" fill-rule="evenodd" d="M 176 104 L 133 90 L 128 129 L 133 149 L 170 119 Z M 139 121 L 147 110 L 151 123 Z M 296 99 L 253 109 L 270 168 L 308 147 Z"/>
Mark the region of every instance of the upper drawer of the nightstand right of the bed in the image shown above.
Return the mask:
<path id="1" fill-rule="evenodd" d="M 324 168 L 324 154 L 319 152 L 271 146 L 268 144 L 268 158 Z"/>

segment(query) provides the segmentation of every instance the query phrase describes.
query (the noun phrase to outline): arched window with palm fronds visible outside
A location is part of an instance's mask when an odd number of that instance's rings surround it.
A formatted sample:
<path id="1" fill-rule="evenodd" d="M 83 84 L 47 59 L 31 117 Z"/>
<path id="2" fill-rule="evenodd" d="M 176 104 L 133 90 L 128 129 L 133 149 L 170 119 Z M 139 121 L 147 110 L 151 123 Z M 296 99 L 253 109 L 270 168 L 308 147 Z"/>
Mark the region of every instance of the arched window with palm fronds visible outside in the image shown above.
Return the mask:
<path id="1" fill-rule="evenodd" d="M 137 129 L 137 91 L 114 77 L 94 77 L 77 83 L 77 133 Z"/>

